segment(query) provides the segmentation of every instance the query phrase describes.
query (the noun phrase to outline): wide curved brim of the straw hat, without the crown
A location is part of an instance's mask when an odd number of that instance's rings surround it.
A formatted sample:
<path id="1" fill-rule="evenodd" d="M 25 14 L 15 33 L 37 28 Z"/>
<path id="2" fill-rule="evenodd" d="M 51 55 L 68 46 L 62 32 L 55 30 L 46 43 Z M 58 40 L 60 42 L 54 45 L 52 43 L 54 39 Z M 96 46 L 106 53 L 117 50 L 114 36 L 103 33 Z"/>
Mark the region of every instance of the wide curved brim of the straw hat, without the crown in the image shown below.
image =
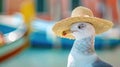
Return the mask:
<path id="1" fill-rule="evenodd" d="M 53 26 L 53 32 L 60 37 L 75 39 L 71 33 L 68 33 L 66 36 L 63 36 L 63 32 L 66 30 L 70 30 L 72 24 L 76 22 L 88 22 L 92 24 L 95 28 L 96 34 L 103 33 L 110 28 L 112 28 L 113 23 L 111 21 L 100 19 L 97 17 L 69 17 L 57 22 Z"/>

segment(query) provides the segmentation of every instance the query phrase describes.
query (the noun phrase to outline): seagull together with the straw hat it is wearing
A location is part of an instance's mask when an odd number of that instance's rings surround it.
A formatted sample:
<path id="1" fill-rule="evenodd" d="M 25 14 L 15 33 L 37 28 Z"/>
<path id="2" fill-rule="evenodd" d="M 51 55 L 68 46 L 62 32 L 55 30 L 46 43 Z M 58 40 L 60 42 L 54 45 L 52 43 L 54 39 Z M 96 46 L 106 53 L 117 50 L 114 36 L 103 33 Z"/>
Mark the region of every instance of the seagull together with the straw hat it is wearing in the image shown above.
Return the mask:
<path id="1" fill-rule="evenodd" d="M 95 35 L 112 26 L 111 21 L 94 17 L 92 11 L 83 6 L 76 7 L 70 17 L 55 23 L 52 30 L 57 36 L 75 39 L 67 67 L 112 67 L 101 60 L 94 49 Z"/>

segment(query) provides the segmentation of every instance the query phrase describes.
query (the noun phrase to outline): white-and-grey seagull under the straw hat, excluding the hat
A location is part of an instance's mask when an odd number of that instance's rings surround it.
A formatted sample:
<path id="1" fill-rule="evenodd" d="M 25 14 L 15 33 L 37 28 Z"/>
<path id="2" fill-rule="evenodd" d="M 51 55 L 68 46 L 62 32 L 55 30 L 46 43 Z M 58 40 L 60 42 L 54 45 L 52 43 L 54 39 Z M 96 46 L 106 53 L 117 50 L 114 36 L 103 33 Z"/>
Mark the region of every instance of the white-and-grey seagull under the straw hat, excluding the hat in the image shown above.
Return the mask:
<path id="1" fill-rule="evenodd" d="M 95 53 L 93 25 L 87 22 L 76 22 L 71 25 L 70 32 L 75 37 L 75 41 L 68 56 L 67 67 L 112 67 Z"/>

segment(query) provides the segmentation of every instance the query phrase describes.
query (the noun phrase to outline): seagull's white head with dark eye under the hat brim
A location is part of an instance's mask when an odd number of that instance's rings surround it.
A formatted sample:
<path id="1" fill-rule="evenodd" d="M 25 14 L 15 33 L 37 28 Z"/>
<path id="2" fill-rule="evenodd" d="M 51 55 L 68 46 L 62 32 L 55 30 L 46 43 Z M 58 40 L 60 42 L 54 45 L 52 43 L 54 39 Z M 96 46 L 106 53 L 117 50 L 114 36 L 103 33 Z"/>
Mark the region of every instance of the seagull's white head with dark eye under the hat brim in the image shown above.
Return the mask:
<path id="1" fill-rule="evenodd" d="M 70 32 L 75 39 L 82 39 L 95 35 L 95 29 L 93 25 L 86 22 L 78 22 L 71 25 Z"/>

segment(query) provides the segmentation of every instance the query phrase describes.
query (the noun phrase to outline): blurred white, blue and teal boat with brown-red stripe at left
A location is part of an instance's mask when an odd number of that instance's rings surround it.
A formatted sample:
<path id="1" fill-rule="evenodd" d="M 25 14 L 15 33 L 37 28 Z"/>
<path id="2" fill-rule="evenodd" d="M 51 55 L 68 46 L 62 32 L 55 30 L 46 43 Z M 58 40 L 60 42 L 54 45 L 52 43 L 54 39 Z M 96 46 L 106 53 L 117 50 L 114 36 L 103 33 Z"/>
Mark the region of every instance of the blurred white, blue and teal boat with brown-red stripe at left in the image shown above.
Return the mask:
<path id="1" fill-rule="evenodd" d="M 0 62 L 18 54 L 28 44 L 25 37 L 27 31 L 22 15 L 16 13 L 12 16 L 0 15 Z"/>

